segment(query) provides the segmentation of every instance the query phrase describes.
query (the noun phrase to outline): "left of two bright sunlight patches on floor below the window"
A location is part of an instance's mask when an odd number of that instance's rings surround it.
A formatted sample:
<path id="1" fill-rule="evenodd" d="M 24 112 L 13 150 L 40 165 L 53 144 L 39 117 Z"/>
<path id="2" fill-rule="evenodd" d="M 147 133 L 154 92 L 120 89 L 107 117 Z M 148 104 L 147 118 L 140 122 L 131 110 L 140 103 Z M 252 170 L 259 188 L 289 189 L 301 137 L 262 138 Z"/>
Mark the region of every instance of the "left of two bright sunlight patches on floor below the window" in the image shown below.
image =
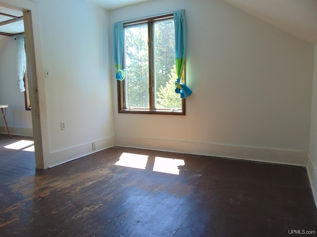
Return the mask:
<path id="1" fill-rule="evenodd" d="M 133 154 L 133 153 L 122 153 L 119 160 L 115 163 L 116 165 L 145 169 L 147 166 L 149 156 Z"/>

